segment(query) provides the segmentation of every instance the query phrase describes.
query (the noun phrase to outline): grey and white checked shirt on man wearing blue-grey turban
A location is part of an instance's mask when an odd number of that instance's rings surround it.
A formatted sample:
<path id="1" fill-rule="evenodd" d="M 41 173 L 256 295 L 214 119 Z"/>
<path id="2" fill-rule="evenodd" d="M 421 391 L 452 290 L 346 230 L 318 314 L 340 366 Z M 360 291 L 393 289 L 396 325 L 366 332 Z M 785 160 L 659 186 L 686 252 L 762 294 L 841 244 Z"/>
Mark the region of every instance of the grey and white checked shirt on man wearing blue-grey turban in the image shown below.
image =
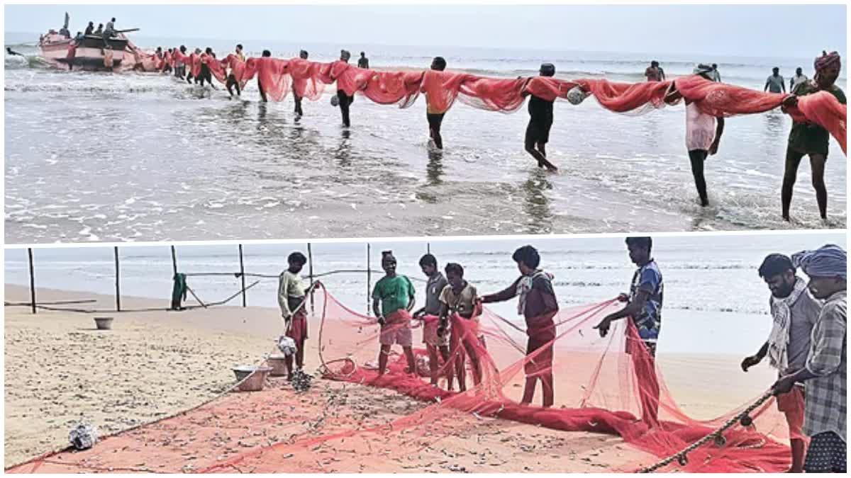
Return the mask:
<path id="1" fill-rule="evenodd" d="M 845 361 L 845 324 L 848 304 L 845 291 L 831 295 L 821 309 L 810 340 L 804 433 L 814 436 L 832 431 L 847 441 L 848 365 Z"/>

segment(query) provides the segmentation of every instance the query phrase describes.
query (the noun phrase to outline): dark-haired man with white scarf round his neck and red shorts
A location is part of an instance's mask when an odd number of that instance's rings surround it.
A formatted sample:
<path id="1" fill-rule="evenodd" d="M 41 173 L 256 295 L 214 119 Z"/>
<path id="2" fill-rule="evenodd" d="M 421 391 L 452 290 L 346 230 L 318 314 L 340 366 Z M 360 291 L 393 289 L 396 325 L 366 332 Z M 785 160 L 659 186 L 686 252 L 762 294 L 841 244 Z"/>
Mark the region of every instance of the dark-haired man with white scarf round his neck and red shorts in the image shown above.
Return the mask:
<path id="1" fill-rule="evenodd" d="M 759 266 L 759 276 L 771 291 L 769 310 L 774 325 L 768 340 L 756 355 L 745 357 L 742 370 L 757 365 L 765 356 L 780 377 L 797 371 L 807 363 L 810 334 L 819 318 L 821 305 L 807 293 L 807 282 L 795 274 L 791 259 L 783 254 L 770 254 Z M 803 438 L 804 390 L 793 387 L 788 393 L 778 395 L 777 408 L 789 425 L 792 454 L 791 473 L 803 472 L 806 442 Z"/>

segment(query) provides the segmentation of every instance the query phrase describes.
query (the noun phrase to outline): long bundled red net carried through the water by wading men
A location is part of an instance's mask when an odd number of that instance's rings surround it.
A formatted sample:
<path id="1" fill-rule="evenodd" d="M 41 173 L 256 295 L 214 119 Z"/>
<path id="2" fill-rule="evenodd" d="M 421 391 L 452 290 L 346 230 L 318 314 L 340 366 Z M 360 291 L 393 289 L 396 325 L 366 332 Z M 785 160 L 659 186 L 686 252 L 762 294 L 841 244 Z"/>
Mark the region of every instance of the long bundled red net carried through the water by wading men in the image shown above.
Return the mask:
<path id="1" fill-rule="evenodd" d="M 159 71 L 165 65 L 155 55 L 134 48 L 137 65 L 146 71 Z M 153 58 L 151 58 L 153 57 Z M 567 99 L 568 92 L 580 87 L 592 94 L 609 111 L 643 113 L 665 105 L 666 94 L 676 88 L 683 98 L 693 101 L 701 111 L 716 117 L 762 113 L 777 108 L 786 94 L 764 93 L 727 83 L 716 83 L 699 75 L 680 77 L 665 82 L 614 83 L 606 79 L 560 80 L 553 77 L 490 78 L 449 71 L 375 71 L 352 66 L 345 61 L 318 63 L 294 58 L 250 58 L 244 63 L 229 55 L 225 60 L 207 59 L 206 55 L 191 54 L 188 58 L 175 50 L 174 59 L 191 65 L 193 76 L 200 72 L 201 63 L 208 63 L 220 82 L 226 81 L 226 68 L 243 86 L 255 75 L 269 99 L 281 101 L 289 90 L 309 100 L 318 100 L 323 86 L 336 83 L 347 95 L 363 94 L 380 105 L 413 105 L 420 93 L 427 96 L 431 111 L 448 111 L 455 100 L 488 110 L 511 112 L 523 105 L 526 94 L 544 100 Z M 830 94 L 812 94 L 799 99 L 797 107 L 787 113 L 797 122 L 814 122 L 827 129 L 846 150 L 845 121 L 847 106 Z"/>

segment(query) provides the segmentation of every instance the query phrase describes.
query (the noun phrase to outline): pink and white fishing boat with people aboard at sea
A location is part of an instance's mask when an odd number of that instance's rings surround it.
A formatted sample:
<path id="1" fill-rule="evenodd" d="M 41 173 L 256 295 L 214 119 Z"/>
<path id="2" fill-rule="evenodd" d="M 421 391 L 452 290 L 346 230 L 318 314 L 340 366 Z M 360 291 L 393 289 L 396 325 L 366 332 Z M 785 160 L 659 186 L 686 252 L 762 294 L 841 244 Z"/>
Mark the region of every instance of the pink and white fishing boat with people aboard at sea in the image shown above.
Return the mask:
<path id="1" fill-rule="evenodd" d="M 51 29 L 39 39 L 42 56 L 52 64 L 69 70 L 117 71 L 123 65 L 132 67 L 135 55 L 124 35 L 138 28 L 114 31 L 114 35 L 79 35 L 71 37 L 68 31 L 70 17 L 60 31 Z"/>

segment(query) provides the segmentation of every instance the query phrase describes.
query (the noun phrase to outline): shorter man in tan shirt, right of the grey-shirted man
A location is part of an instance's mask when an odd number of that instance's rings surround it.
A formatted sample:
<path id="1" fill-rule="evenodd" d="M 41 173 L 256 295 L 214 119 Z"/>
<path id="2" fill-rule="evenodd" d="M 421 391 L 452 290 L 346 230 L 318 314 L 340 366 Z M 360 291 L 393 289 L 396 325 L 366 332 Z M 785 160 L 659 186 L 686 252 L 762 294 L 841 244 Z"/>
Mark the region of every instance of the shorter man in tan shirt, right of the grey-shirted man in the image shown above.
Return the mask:
<path id="1" fill-rule="evenodd" d="M 477 350 L 484 350 L 484 335 L 479 330 L 481 307 L 477 304 L 478 292 L 476 287 L 464 280 L 464 268 L 460 264 L 450 262 L 446 265 L 446 279 L 449 282 L 440 293 L 440 323 L 437 334 L 441 337 L 449 335 L 451 354 L 455 356 L 455 371 L 458 376 L 458 390 L 467 390 L 465 352 L 470 356 L 473 369 L 473 384 L 482 383 L 482 361 Z M 462 321 L 460 327 L 451 327 L 452 321 Z M 450 333 L 450 330 L 452 331 Z M 457 333 L 456 333 L 457 331 Z M 469 334 L 469 335 L 468 335 Z M 475 344 L 475 340 L 478 344 Z M 460 346 L 464 348 L 461 349 Z M 449 386 L 452 390 L 452 367 L 448 366 Z"/>

